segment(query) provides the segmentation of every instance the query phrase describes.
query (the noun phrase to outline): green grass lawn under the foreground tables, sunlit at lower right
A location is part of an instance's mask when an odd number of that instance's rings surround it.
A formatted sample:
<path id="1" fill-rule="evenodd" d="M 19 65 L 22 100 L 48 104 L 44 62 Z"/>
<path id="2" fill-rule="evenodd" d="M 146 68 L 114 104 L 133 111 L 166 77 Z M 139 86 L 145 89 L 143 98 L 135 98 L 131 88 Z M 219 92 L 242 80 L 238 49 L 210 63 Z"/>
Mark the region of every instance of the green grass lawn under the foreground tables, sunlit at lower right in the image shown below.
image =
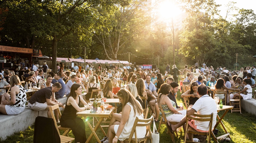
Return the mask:
<path id="1" fill-rule="evenodd" d="M 177 96 L 178 104 L 183 102 L 183 98 L 181 99 L 180 95 L 181 93 L 179 93 L 178 91 L 178 96 Z M 221 111 L 218 114 L 219 116 L 221 116 L 223 113 L 224 111 Z M 88 119 L 92 121 L 92 118 L 88 118 Z M 227 131 L 230 133 L 232 143 L 240 143 L 240 142 L 256 143 L 256 118 L 254 115 L 246 113 L 245 111 L 242 111 L 242 114 L 240 114 L 239 112 L 233 112 L 231 114 L 231 112 L 229 111 L 222 121 Z M 87 123 L 85 123 L 85 125 L 86 125 L 86 136 L 89 137 L 91 131 Z M 157 123 L 156 125 L 158 127 L 159 123 Z M 151 129 L 152 128 L 153 128 L 153 124 L 151 125 Z M 105 132 L 107 132 L 107 128 L 103 128 L 103 129 L 105 130 Z M 221 131 L 222 135 L 224 134 L 224 131 L 220 125 L 217 127 L 217 129 Z M 161 143 L 172 142 L 169 134 L 167 134 L 166 132 L 167 132 L 166 125 L 161 125 L 160 131 L 159 131 Z M 103 138 L 103 135 L 100 129 L 98 129 L 96 133 L 100 139 Z M 0 140 L 0 143 L 7 143 L 7 142 L 8 143 L 30 143 L 30 142 L 32 143 L 33 134 L 34 134 L 34 126 L 28 127 L 25 131 L 15 133 L 14 135 L 9 136 L 4 141 Z M 69 136 L 74 137 L 72 132 L 69 133 Z M 178 138 L 175 138 L 175 141 L 177 143 L 184 142 L 184 132 L 182 132 L 182 134 L 179 132 L 179 136 Z M 92 138 L 91 142 L 93 143 L 96 142 L 95 137 Z M 211 142 L 214 142 L 213 138 L 211 138 Z"/>

